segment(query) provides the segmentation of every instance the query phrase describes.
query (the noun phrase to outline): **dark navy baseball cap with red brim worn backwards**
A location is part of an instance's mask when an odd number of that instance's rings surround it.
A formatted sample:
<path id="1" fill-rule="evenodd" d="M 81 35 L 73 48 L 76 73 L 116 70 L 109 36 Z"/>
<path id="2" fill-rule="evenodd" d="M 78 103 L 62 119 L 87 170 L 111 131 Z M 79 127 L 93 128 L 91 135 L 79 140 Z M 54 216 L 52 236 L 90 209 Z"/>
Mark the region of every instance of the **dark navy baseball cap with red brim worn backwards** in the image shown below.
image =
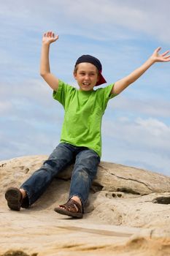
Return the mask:
<path id="1" fill-rule="evenodd" d="M 96 86 L 100 86 L 102 83 L 107 83 L 103 75 L 101 75 L 102 66 L 101 66 L 101 62 L 97 58 L 90 55 L 82 55 L 80 56 L 79 59 L 77 59 L 75 67 L 77 66 L 77 64 L 80 64 L 82 62 L 88 62 L 90 64 L 93 64 L 98 69 L 99 80 L 96 83 Z"/>

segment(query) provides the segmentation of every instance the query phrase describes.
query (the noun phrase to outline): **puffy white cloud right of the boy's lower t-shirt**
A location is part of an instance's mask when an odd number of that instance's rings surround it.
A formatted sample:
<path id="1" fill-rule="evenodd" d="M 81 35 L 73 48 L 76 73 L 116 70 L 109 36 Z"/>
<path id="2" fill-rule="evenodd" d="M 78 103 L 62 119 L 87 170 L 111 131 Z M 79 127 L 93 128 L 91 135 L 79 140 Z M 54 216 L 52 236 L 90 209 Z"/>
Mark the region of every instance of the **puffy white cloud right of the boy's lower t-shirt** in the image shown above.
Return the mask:
<path id="1" fill-rule="evenodd" d="M 136 118 L 135 120 L 116 118 L 103 123 L 104 135 L 122 140 L 123 143 L 136 150 L 159 151 L 169 157 L 170 127 L 155 118 Z"/>

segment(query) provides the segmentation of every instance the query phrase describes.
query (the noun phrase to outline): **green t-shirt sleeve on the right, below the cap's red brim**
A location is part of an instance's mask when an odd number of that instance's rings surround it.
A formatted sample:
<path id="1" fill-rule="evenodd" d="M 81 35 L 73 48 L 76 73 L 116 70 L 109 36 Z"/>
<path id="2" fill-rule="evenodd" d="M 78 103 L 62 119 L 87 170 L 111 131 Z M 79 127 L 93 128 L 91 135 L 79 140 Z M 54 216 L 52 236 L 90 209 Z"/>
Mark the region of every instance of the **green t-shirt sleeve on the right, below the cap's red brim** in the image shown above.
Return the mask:
<path id="1" fill-rule="evenodd" d="M 101 100 L 103 110 L 105 110 L 107 108 L 107 103 L 108 103 L 109 99 L 112 99 L 113 97 L 117 96 L 117 94 L 111 94 L 111 91 L 112 91 L 112 88 L 114 85 L 115 85 L 115 83 L 112 83 L 109 86 L 98 89 L 98 94 L 99 94 L 99 97 Z"/>

